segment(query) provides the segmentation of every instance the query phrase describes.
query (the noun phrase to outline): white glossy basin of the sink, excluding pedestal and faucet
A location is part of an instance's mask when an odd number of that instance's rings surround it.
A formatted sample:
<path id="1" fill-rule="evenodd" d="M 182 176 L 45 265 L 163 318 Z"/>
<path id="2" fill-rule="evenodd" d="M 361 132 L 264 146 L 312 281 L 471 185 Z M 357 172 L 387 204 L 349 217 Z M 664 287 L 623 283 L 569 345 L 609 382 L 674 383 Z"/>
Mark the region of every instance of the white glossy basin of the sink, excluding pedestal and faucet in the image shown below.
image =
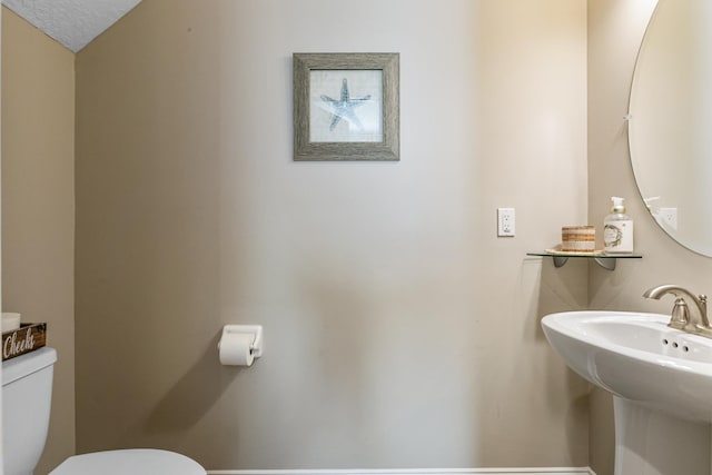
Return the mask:
<path id="1" fill-rule="evenodd" d="M 551 346 L 591 383 L 654 410 L 712 422 L 712 339 L 668 327 L 670 316 L 566 311 L 542 319 Z"/>

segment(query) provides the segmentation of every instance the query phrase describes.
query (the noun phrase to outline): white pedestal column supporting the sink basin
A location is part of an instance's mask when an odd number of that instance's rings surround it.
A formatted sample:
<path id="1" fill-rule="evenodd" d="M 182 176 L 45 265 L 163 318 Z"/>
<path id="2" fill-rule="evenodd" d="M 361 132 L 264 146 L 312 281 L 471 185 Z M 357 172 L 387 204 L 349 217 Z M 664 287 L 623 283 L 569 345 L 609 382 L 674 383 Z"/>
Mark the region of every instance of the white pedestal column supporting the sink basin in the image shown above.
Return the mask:
<path id="1" fill-rule="evenodd" d="M 670 382 L 670 384 L 675 384 Z M 615 475 L 710 475 L 710 425 L 613 396 Z"/>

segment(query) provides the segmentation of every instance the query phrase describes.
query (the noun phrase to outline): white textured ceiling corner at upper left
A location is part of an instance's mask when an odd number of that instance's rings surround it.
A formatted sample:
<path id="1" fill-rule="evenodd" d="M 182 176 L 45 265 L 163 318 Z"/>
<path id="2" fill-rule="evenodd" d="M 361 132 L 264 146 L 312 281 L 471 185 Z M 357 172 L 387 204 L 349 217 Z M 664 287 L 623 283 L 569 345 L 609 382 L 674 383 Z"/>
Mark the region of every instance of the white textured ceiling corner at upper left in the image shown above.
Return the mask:
<path id="1" fill-rule="evenodd" d="M 2 4 L 73 52 L 141 0 L 2 0 Z"/>

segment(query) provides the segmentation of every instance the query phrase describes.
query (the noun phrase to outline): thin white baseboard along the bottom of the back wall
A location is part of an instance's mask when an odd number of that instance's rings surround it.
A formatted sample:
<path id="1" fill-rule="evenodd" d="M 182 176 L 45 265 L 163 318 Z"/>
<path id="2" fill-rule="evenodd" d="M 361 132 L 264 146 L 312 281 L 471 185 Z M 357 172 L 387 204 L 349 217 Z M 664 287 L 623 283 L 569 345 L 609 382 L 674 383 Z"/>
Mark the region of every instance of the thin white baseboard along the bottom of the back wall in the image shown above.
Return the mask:
<path id="1" fill-rule="evenodd" d="M 566 468 L 413 468 L 413 469 L 294 469 L 208 471 L 208 475 L 596 475 L 589 467 Z"/>

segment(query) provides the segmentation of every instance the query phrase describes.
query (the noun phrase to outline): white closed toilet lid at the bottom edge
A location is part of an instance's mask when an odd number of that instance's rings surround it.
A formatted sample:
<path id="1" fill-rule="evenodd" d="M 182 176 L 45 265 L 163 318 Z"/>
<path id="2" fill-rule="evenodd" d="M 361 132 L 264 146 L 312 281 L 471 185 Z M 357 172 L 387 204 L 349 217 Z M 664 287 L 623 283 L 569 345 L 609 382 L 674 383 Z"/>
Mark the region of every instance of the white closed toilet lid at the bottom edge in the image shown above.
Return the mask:
<path id="1" fill-rule="evenodd" d="M 152 448 L 95 452 L 67 458 L 49 475 L 206 475 L 197 462 Z"/>

